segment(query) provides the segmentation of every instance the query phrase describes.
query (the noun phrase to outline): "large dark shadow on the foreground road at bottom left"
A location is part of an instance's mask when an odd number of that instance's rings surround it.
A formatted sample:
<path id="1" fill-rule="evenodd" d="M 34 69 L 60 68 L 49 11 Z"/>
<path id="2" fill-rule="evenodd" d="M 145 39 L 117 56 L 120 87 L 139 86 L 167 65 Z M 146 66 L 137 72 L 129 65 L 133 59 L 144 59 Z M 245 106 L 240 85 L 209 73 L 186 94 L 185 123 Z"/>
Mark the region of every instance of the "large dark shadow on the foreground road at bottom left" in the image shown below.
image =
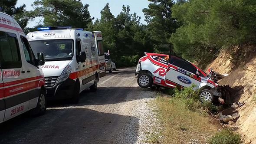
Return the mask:
<path id="1" fill-rule="evenodd" d="M 125 123 L 133 127 L 125 130 Z M 138 127 L 136 117 L 87 108 L 50 109 L 40 117 L 22 115 L 0 124 L 0 143 L 135 143 Z"/>

